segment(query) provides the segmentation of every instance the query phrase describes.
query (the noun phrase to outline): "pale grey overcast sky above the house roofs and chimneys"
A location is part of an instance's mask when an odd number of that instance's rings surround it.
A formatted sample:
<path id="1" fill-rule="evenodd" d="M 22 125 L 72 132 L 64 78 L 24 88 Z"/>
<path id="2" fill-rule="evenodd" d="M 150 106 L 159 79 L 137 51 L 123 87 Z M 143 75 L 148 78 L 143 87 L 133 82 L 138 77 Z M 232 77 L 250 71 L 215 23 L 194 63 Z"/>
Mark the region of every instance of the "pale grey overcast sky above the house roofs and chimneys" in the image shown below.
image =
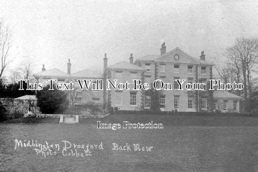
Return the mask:
<path id="1" fill-rule="evenodd" d="M 206 59 L 234 44 L 238 37 L 258 37 L 258 1 L 244 0 L 1 0 L 0 18 L 13 30 L 15 60 L 32 73 L 58 68 L 72 73 L 103 70 L 149 54 L 180 47 Z"/>

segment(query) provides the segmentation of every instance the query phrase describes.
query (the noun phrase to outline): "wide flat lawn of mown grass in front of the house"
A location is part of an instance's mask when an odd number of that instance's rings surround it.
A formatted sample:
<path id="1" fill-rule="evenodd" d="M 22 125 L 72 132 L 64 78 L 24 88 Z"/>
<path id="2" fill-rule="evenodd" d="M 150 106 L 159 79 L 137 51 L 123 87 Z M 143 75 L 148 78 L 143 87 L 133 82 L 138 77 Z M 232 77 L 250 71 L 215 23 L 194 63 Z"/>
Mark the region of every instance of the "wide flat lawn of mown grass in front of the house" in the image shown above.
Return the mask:
<path id="1" fill-rule="evenodd" d="M 112 115 L 102 123 L 163 123 L 164 129 L 97 129 L 97 119 L 78 125 L 59 125 L 59 119 L 39 124 L 0 123 L 0 171 L 258 171 L 258 117 Z M 42 156 L 34 147 L 16 147 L 15 139 L 59 144 L 57 155 Z M 62 141 L 97 144 L 92 156 L 62 154 Z M 103 149 L 99 149 L 102 142 Z M 131 151 L 112 150 L 112 143 L 130 145 Z M 26 142 L 27 143 L 27 142 Z M 134 143 L 152 146 L 134 151 Z M 94 146 L 93 146 L 94 147 Z M 122 147 L 123 148 L 123 147 Z M 56 148 L 53 147 L 52 151 Z M 83 149 L 76 147 L 83 153 Z"/>

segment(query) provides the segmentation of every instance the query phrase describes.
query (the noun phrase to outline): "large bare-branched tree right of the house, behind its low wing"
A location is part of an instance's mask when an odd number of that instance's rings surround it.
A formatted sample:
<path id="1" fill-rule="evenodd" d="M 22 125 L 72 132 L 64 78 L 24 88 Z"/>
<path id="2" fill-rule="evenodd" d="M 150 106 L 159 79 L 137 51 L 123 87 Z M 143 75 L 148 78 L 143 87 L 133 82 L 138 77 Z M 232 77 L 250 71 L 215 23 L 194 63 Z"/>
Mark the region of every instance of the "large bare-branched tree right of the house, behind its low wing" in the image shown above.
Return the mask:
<path id="1" fill-rule="evenodd" d="M 235 44 L 226 49 L 224 57 L 226 57 L 226 65 L 218 64 L 217 66 L 220 77 L 225 82 L 242 82 L 244 86 L 243 96 L 245 99 L 250 98 L 252 94 L 252 76 L 254 72 L 257 72 L 258 66 L 258 39 L 236 39 Z"/>

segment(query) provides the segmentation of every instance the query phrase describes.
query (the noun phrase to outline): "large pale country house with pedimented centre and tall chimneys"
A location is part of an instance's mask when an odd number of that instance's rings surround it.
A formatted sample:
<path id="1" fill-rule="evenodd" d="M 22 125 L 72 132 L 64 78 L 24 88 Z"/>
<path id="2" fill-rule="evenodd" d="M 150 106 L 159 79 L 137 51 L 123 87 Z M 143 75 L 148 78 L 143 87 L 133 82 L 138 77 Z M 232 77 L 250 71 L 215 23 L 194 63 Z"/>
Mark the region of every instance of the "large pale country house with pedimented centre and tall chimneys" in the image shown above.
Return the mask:
<path id="1" fill-rule="evenodd" d="M 76 97 L 75 104 L 81 105 L 88 101 L 103 103 L 104 106 L 117 107 L 120 110 L 150 109 L 152 98 L 146 91 L 132 90 L 132 79 L 140 79 L 150 85 L 155 79 L 172 83 L 172 90 L 163 90 L 159 95 L 160 109 L 163 111 L 240 111 L 240 102 L 243 97 L 226 91 L 187 91 L 179 88 L 175 79 L 186 79 L 185 83 L 208 83 L 212 78 L 213 63 L 205 59 L 204 51 L 199 59 L 184 52 L 179 47 L 166 51 L 165 43 L 162 44 L 160 55 L 147 55 L 134 62 L 131 54 L 128 62 L 120 62 L 107 65 L 107 57 L 104 57 L 104 74 L 85 69 L 71 74 L 70 59 L 67 63 L 67 73 L 59 69 L 46 70 L 44 65 L 42 72 L 34 74 L 39 81 L 55 78 L 59 82 L 75 81 L 76 79 L 103 79 L 104 89 L 89 94 L 81 91 Z M 118 82 L 128 81 L 130 90 L 106 90 L 106 79 L 117 79 Z"/>

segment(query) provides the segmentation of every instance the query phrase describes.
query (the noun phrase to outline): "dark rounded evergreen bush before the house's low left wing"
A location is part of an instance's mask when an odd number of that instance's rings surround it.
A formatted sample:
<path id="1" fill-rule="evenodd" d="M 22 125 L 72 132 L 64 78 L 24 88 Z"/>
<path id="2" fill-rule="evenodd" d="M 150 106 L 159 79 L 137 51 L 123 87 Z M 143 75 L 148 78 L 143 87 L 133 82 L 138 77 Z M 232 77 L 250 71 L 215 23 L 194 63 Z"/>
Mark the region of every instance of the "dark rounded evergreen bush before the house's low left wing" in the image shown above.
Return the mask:
<path id="1" fill-rule="evenodd" d="M 37 92 L 37 106 L 42 113 L 53 114 L 54 112 L 62 112 L 68 107 L 67 93 L 60 90 L 48 90 L 49 85 Z"/>

